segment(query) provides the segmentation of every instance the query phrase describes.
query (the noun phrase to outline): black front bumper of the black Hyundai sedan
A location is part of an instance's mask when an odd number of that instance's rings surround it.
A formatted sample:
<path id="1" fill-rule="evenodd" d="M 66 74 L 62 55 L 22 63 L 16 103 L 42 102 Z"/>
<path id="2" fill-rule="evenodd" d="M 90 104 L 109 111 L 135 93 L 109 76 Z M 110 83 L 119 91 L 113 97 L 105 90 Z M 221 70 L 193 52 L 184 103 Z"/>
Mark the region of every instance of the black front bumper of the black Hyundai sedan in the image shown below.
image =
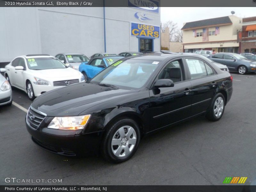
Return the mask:
<path id="1" fill-rule="evenodd" d="M 27 119 L 25 121 L 34 143 L 47 151 L 64 156 L 89 156 L 99 152 L 102 132 L 82 134 L 81 130 L 74 134 L 73 131 L 49 129 L 44 123 L 34 129 L 28 125 Z"/>

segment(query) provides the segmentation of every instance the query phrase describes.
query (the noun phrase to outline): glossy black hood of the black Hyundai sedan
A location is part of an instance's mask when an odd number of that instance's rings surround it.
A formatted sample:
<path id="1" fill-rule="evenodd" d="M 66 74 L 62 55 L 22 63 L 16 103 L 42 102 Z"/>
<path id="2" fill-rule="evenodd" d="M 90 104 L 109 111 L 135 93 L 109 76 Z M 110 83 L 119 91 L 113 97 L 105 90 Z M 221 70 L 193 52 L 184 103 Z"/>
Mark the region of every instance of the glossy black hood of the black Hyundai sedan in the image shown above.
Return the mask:
<path id="1" fill-rule="evenodd" d="M 37 97 L 31 106 L 47 116 L 84 115 L 89 108 L 133 92 L 138 90 L 112 89 L 82 82 L 46 92 Z"/>

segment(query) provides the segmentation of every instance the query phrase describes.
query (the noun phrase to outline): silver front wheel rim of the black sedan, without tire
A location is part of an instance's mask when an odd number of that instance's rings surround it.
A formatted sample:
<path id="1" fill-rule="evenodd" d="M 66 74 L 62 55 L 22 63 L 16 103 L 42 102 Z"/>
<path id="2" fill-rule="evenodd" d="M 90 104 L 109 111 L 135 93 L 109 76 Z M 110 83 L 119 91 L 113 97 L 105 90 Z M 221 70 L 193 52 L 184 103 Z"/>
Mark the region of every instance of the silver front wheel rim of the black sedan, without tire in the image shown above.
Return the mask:
<path id="1" fill-rule="evenodd" d="M 116 157 L 128 156 L 135 147 L 137 135 L 131 126 L 122 126 L 114 134 L 111 149 Z"/>

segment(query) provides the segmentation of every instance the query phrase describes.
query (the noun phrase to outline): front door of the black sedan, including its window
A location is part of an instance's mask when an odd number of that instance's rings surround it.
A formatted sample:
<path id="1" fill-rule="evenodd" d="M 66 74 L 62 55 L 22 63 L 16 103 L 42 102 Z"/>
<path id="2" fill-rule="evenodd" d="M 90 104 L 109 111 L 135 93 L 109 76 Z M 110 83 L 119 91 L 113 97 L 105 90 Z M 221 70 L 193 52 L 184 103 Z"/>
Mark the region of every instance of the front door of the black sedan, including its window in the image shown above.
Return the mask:
<path id="1" fill-rule="evenodd" d="M 171 79 L 174 87 L 153 87 L 149 91 L 151 131 L 190 116 L 191 95 L 187 91 L 191 84 L 185 77 L 183 63 L 182 58 L 168 61 L 156 77 L 156 80 Z"/>

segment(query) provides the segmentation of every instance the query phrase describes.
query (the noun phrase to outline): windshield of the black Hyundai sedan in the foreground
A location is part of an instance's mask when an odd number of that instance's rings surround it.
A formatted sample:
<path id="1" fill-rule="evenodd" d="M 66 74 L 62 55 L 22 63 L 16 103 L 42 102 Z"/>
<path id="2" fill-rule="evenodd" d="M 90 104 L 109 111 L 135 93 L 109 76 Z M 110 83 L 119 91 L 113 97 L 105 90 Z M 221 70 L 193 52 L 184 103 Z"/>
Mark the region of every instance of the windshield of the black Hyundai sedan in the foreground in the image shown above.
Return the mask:
<path id="1" fill-rule="evenodd" d="M 119 60 L 95 76 L 91 83 L 138 89 L 148 81 L 158 63 L 153 60 Z"/>

